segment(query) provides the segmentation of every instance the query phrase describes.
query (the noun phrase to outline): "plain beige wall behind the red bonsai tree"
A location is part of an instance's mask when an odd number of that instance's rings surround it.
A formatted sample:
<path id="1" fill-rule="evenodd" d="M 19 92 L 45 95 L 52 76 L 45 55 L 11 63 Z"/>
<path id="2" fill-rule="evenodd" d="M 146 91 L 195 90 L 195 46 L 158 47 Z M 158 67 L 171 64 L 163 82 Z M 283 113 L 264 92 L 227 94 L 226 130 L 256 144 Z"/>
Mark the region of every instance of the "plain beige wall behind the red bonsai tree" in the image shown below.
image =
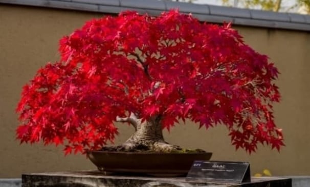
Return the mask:
<path id="1" fill-rule="evenodd" d="M 85 170 L 95 167 L 83 155 L 63 156 L 62 148 L 19 145 L 14 113 L 21 87 L 48 61 L 58 59 L 58 40 L 101 14 L 0 5 L 0 178 L 25 172 Z M 208 131 L 188 122 L 177 125 L 166 139 L 188 148 L 213 152 L 212 159 L 249 161 L 252 174 L 267 168 L 274 175 L 310 175 L 310 34 L 298 31 L 236 27 L 248 44 L 267 54 L 279 68 L 282 102 L 275 107 L 276 123 L 283 128 L 285 144 L 280 153 L 259 147 L 248 155 L 235 151 L 227 130 Z M 120 125 L 117 143 L 132 129 Z"/>

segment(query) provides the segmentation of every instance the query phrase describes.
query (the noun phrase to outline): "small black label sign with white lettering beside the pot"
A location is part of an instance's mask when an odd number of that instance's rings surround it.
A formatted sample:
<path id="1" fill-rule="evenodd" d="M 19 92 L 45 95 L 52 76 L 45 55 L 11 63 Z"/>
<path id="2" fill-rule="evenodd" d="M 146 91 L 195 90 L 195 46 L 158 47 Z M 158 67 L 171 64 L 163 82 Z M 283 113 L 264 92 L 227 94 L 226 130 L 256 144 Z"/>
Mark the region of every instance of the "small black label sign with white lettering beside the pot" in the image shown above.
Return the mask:
<path id="1" fill-rule="evenodd" d="M 186 179 L 203 179 L 223 183 L 251 182 L 250 164 L 247 162 L 195 161 Z"/>

